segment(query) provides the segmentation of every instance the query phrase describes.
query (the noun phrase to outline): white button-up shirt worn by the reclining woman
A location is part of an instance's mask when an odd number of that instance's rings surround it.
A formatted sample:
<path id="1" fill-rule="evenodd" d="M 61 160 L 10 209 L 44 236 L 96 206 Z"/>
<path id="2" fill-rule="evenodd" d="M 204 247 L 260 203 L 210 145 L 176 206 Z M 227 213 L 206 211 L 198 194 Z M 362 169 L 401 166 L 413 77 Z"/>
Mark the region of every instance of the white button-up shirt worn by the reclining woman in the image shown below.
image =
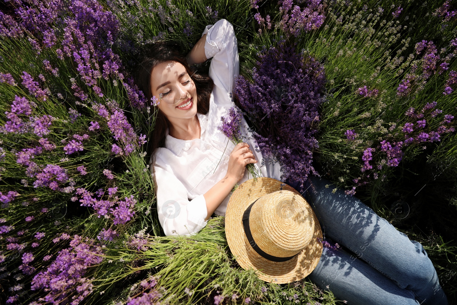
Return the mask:
<path id="1" fill-rule="evenodd" d="M 213 92 L 209 100 L 209 111 L 206 115 L 197 112 L 201 126 L 201 138 L 193 140 L 176 139 L 166 131 L 165 147 L 156 150 L 154 165 L 157 182 L 157 211 L 160 225 L 165 235 L 190 235 L 201 230 L 206 224 L 206 201 L 203 194 L 219 182 L 227 173 L 228 159 L 235 145 L 218 130 L 222 124 L 221 117 L 228 118 L 230 107 L 234 102 L 230 98 L 239 75 L 238 45 L 233 25 L 225 19 L 208 25 L 202 33 L 207 34 L 205 55 L 213 57 L 209 76 L 214 81 Z M 252 138 L 242 118 L 241 133 Z M 260 177 L 281 180 L 281 167 L 272 163 L 271 156 L 262 161 L 261 152 L 256 152 L 254 139 L 245 140 L 255 155 L 254 163 Z M 227 146 L 227 148 L 226 148 Z M 225 150 L 225 151 L 224 151 Z M 152 164 L 152 160 L 149 161 Z M 152 174 L 152 166 L 150 166 Z M 249 175 L 249 177 L 248 177 Z M 239 184 L 252 179 L 248 170 Z M 232 193 L 223 200 L 216 215 L 225 215 L 227 203 Z"/>

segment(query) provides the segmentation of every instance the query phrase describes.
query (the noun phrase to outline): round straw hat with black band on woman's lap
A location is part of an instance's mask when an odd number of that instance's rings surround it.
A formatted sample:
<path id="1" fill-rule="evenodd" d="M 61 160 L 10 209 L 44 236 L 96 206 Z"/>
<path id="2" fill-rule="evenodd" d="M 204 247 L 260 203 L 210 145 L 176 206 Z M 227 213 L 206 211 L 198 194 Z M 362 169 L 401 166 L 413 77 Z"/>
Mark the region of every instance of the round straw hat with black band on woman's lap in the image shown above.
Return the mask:
<path id="1" fill-rule="evenodd" d="M 233 192 L 225 235 L 242 268 L 258 270 L 260 279 L 276 284 L 305 278 L 322 254 L 317 240 L 322 230 L 308 202 L 293 187 L 268 177 L 243 182 Z"/>

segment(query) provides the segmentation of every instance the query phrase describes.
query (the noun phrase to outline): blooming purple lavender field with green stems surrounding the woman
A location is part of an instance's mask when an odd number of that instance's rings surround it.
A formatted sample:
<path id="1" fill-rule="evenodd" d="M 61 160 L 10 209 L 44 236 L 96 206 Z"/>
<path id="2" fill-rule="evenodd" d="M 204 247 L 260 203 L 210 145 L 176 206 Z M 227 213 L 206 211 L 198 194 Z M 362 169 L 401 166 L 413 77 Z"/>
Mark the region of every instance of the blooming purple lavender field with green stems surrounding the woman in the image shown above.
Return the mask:
<path id="1" fill-rule="evenodd" d="M 224 217 L 193 236 L 161 229 L 158 109 L 136 71 L 152 43 L 187 54 L 222 18 L 238 40 L 234 102 L 262 154 L 419 241 L 456 304 L 450 0 L 2 0 L 0 304 L 345 304 L 307 278 L 240 268 Z"/>

